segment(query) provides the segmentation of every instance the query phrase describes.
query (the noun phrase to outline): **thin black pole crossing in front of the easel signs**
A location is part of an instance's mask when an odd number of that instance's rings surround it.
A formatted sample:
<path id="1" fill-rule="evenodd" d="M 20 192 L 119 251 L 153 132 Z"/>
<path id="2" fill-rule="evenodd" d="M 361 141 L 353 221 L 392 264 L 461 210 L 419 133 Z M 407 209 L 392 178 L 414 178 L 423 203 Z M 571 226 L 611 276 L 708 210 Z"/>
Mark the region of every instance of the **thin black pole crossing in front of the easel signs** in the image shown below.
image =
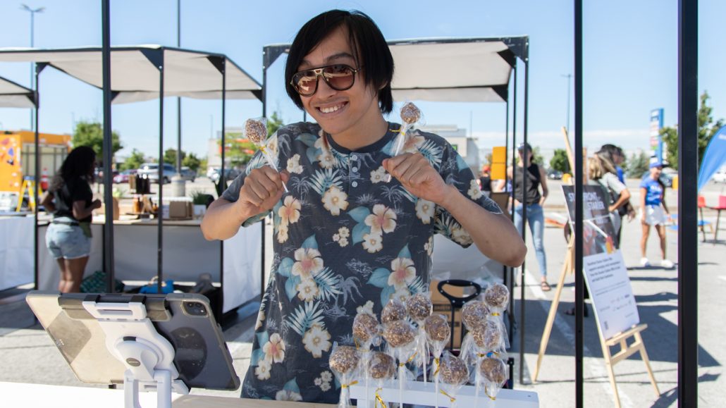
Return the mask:
<path id="1" fill-rule="evenodd" d="M 582 274 L 582 0 L 575 0 L 575 406 L 584 407 L 583 394 L 583 309 L 584 275 Z"/>

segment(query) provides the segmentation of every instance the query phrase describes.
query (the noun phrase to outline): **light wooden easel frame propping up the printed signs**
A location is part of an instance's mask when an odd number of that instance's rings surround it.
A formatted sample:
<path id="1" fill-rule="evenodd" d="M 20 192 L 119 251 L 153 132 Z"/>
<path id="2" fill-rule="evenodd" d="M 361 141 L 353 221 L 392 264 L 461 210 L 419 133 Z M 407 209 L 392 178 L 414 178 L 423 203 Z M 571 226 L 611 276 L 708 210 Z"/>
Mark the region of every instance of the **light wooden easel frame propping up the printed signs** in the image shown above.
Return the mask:
<path id="1" fill-rule="evenodd" d="M 567 134 L 566 129 L 562 128 L 563 136 L 565 137 L 565 147 L 567 150 L 567 156 L 568 160 L 570 162 L 570 168 L 575 168 L 574 166 L 574 158 L 572 155 L 572 148 L 570 146 L 570 140 Z M 587 157 L 587 155 L 585 155 Z M 587 164 L 584 164 L 584 167 L 587 168 Z M 584 168 L 582 169 L 585 170 Z M 587 174 L 587 171 L 584 171 L 584 175 Z M 547 322 L 544 324 L 544 332 L 542 333 L 542 340 L 539 342 L 539 353 L 537 354 L 537 366 L 534 369 L 534 376 L 532 377 L 532 381 L 537 381 L 537 376 L 539 375 L 539 369 L 542 365 L 542 357 L 544 356 L 544 352 L 547 351 L 547 343 L 550 340 L 550 334 L 552 333 L 552 324 L 555 322 L 555 317 L 557 315 L 557 308 L 560 304 L 560 295 L 562 295 L 562 290 L 565 285 L 565 276 L 568 273 L 574 273 L 574 265 L 575 265 L 575 253 L 574 253 L 574 234 L 570 235 L 570 239 L 567 242 L 567 252 L 565 255 L 565 260 L 563 262 L 562 271 L 560 272 L 560 280 L 557 282 L 557 290 L 555 290 L 555 297 L 552 299 L 552 304 L 550 305 L 550 313 L 547 314 Z M 656 383 L 656 378 L 653 377 L 653 370 L 650 369 L 650 360 L 648 360 L 648 353 L 645 351 L 645 343 L 643 343 L 643 338 L 640 335 L 640 332 L 648 328 L 648 325 L 641 324 L 636 325 L 634 327 L 631 327 L 629 330 L 626 330 L 624 332 L 620 332 L 616 335 L 614 335 L 612 338 L 605 339 L 603 338 L 603 332 L 600 330 L 600 322 L 597 319 L 597 310 L 595 310 L 595 307 L 592 308 L 593 314 L 595 315 L 595 326 L 597 326 L 597 335 L 600 337 L 600 345 L 603 347 L 603 357 L 605 358 L 605 367 L 608 369 L 608 378 L 610 378 L 610 385 L 613 387 L 613 393 L 615 393 L 615 405 L 616 407 L 620 408 L 620 396 L 618 393 L 618 387 L 615 382 L 615 372 L 613 371 L 613 366 L 619 362 L 621 362 L 624 359 L 627 359 L 629 356 L 632 356 L 635 353 L 640 352 L 640 357 L 643 359 L 643 362 L 645 363 L 645 370 L 648 371 L 648 376 L 650 377 L 650 383 L 653 384 L 653 388 L 656 391 L 656 396 L 661 395 L 661 392 L 658 390 L 658 384 Z M 635 339 L 635 341 L 632 344 L 628 344 L 628 340 L 630 338 Z M 610 348 L 620 346 L 620 350 L 616 352 L 616 354 L 611 354 Z"/>

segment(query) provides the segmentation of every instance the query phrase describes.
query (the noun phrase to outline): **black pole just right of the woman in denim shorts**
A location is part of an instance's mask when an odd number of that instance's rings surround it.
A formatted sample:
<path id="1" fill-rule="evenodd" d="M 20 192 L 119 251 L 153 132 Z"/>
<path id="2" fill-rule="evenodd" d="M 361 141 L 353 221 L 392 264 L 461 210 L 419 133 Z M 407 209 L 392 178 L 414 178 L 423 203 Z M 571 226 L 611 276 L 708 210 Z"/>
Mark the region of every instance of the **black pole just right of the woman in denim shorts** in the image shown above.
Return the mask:
<path id="1" fill-rule="evenodd" d="M 111 139 L 111 20 L 109 0 L 102 3 L 102 76 L 103 76 L 103 201 L 106 207 L 103 224 L 103 270 L 106 272 L 106 292 L 113 293 L 113 139 Z"/>

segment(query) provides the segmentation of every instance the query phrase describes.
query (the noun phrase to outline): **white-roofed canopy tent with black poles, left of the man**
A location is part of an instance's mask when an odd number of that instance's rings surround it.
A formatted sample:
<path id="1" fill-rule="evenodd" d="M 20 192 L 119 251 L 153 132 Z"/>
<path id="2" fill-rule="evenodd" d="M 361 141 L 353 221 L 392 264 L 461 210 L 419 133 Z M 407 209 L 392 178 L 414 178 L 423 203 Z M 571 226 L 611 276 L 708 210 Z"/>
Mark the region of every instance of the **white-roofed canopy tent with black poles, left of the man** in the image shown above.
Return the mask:
<path id="1" fill-rule="evenodd" d="M 159 158 L 163 156 L 163 101 L 164 97 L 192 97 L 197 99 L 221 99 L 221 128 L 225 123 L 225 103 L 232 99 L 261 99 L 261 85 L 224 54 L 199 52 L 159 45 L 107 46 L 110 70 L 108 81 L 104 81 L 102 47 L 71 49 L 0 49 L 0 62 L 36 62 L 36 92 L 40 88 L 39 74 L 46 67 L 53 67 L 91 86 L 110 91 L 113 103 L 138 102 L 159 99 Z M 104 89 L 104 84 L 107 88 Z M 110 86 L 108 86 L 110 84 Z M 104 102 L 106 103 L 106 102 Z M 106 108 L 104 108 L 106 110 Z M 36 150 L 38 134 L 38 113 L 36 109 Z M 110 121 L 110 118 L 109 118 Z M 106 125 L 105 117 L 105 125 Z M 104 126 L 110 128 L 110 126 Z M 105 139 L 110 140 L 110 134 Z M 222 132 L 224 145 L 224 132 Z M 109 156 L 110 158 L 110 156 Z M 222 149 L 222 173 L 224 174 L 224 149 Z M 110 161 L 110 160 L 109 160 Z M 105 163 L 105 166 L 110 164 Z M 110 174 L 110 167 L 106 167 Z M 163 179 L 163 166 L 159 166 L 159 179 Z M 36 160 L 36 174 L 39 174 Z M 104 179 L 107 192 L 106 213 L 113 213 L 110 191 L 111 179 Z M 37 197 L 36 197 L 37 200 Z M 158 192 L 159 203 L 163 202 L 162 189 Z M 35 282 L 38 284 L 38 223 L 35 223 Z M 158 290 L 163 282 L 163 217 L 158 217 Z M 109 216 L 107 216 L 109 220 Z M 107 272 L 107 287 L 113 291 L 113 225 L 107 222 L 103 235 L 104 269 Z M 222 284 L 221 305 L 224 301 L 224 242 L 220 242 L 220 280 Z M 231 294 L 234 296 L 234 293 Z M 226 306 L 224 306 L 226 307 Z M 220 308 L 221 309 L 221 308 Z M 232 308 L 229 308 L 232 309 Z M 220 310 L 221 311 L 221 310 Z M 227 311 L 227 310 L 224 310 Z M 222 312 L 224 312 L 222 311 Z"/>

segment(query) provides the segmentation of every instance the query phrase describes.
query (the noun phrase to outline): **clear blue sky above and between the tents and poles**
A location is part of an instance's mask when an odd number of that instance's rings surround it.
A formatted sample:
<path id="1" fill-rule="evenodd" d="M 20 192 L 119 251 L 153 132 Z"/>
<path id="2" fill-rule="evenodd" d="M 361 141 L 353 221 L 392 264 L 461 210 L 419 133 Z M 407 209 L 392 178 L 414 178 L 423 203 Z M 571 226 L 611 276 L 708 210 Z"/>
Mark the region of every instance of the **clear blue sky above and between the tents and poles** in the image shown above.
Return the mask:
<path id="1" fill-rule="evenodd" d="M 46 7 L 36 15 L 38 48 L 101 44 L 99 0 L 7 0 L 0 3 L 4 27 L 0 47 L 30 45 L 30 15 L 20 9 Z M 584 1 L 584 141 L 627 150 L 647 149 L 650 110 L 662 107 L 666 125 L 677 119 L 677 0 Z M 446 4 L 446 7 L 442 7 Z M 717 26 L 726 1 L 699 1 L 699 92 L 711 96 L 715 118 L 726 118 L 726 53 Z M 543 150 L 563 147 L 567 79 L 574 73 L 573 1 L 239 1 L 181 0 L 181 47 L 220 52 L 261 82 L 262 48 L 293 40 L 297 30 L 327 9 L 360 9 L 388 39 L 420 37 L 530 37 L 529 136 Z M 176 46 L 176 0 L 111 1 L 111 44 Z M 452 61 L 452 64 L 455 64 Z M 0 63 L 0 76 L 26 86 L 27 63 Z M 285 122 L 302 113 L 282 86 L 284 60 L 268 71 L 268 113 Z M 523 73 L 523 70 L 520 70 Z M 519 90 L 523 90 L 521 76 Z M 70 133 L 74 121 L 102 119 L 102 93 L 55 70 L 41 75 L 41 131 Z M 165 103 L 165 148 L 176 147 L 176 102 Z M 523 100 L 520 97 L 520 102 Z M 469 128 L 481 147 L 503 144 L 505 105 L 421 102 L 428 124 Z M 220 102 L 184 99 L 182 149 L 205 155 L 207 139 L 221 127 Z M 571 99 L 574 122 L 574 99 Z M 394 112 L 396 112 L 394 110 Z M 518 125 L 522 125 L 518 113 Z M 158 102 L 113 107 L 113 129 L 126 155 L 135 147 L 158 154 Z M 261 115 L 261 103 L 228 101 L 227 126 Z M 392 117 L 392 121 L 398 118 Z M 28 110 L 0 109 L 0 128 L 28 128 Z M 521 137 L 521 131 L 518 133 Z"/>

